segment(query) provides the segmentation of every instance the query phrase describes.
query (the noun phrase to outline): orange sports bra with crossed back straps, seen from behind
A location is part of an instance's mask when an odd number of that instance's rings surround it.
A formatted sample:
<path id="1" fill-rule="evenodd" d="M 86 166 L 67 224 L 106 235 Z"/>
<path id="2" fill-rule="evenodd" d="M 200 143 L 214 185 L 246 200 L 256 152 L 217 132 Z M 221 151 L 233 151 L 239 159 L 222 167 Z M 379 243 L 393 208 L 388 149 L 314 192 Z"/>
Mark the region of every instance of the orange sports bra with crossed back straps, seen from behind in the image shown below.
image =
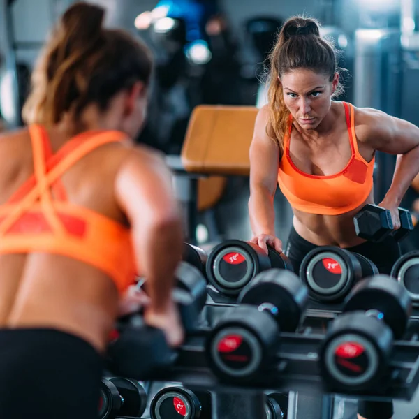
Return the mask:
<path id="1" fill-rule="evenodd" d="M 119 131 L 82 133 L 52 155 L 45 129 L 29 127 L 34 175 L 0 205 L 0 254 L 47 252 L 81 260 L 108 274 L 120 292 L 135 279 L 131 231 L 66 200 L 61 175 L 97 147 L 119 142 Z M 56 198 L 52 197 L 52 190 Z"/>

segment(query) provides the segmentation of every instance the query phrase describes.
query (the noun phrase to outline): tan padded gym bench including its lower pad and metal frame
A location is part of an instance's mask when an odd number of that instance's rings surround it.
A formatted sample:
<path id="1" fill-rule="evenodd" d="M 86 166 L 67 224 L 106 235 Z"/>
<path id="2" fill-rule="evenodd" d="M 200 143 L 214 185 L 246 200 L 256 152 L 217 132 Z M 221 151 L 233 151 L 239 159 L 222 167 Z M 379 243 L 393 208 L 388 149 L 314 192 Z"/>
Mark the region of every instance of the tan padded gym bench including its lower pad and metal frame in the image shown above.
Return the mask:
<path id="1" fill-rule="evenodd" d="M 167 156 L 184 202 L 186 235 L 195 241 L 197 212 L 219 202 L 229 175 L 249 176 L 249 147 L 258 108 L 199 105 L 189 119 L 180 156 Z M 189 186 L 184 183 L 185 176 Z"/>

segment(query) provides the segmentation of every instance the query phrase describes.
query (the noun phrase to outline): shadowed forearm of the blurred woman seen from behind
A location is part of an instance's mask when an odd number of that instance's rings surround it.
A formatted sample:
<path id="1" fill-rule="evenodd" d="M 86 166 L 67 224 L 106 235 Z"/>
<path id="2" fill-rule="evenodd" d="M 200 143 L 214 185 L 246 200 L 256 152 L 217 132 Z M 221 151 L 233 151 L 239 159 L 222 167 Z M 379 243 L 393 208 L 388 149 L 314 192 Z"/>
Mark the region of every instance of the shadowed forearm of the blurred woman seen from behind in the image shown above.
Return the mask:
<path id="1" fill-rule="evenodd" d="M 168 309 L 175 269 L 182 260 L 182 226 L 179 220 L 160 223 L 144 232 L 140 260 L 146 279 L 149 309 L 155 313 Z"/>

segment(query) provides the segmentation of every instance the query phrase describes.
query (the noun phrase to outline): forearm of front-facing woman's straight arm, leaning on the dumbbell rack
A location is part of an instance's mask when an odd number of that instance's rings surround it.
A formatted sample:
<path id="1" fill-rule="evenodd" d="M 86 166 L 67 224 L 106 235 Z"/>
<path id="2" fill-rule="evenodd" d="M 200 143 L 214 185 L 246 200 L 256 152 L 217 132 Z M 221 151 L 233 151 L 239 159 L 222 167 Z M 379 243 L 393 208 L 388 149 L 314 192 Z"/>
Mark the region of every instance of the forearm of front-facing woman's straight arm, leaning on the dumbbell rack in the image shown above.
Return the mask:
<path id="1" fill-rule="evenodd" d="M 256 189 L 249 199 L 249 216 L 253 235 L 275 235 L 274 197 L 269 191 Z"/>

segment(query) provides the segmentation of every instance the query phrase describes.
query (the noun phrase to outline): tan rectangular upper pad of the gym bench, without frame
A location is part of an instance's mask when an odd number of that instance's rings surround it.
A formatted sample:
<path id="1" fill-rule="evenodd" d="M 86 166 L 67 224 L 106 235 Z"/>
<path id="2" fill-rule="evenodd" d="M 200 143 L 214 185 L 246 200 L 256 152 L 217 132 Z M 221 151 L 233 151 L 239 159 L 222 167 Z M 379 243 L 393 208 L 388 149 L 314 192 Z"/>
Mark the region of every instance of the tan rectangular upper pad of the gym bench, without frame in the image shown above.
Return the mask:
<path id="1" fill-rule="evenodd" d="M 184 170 L 249 176 L 249 147 L 257 113 L 253 106 L 197 106 L 182 147 Z"/>

